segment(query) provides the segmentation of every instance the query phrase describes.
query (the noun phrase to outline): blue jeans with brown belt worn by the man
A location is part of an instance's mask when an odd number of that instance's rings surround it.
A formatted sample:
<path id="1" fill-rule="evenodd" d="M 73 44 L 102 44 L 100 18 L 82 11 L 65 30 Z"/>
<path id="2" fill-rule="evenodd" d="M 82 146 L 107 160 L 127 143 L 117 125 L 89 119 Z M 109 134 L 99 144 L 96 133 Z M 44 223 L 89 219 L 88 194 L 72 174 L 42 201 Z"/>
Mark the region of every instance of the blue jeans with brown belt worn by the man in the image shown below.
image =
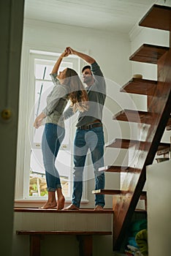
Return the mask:
<path id="1" fill-rule="evenodd" d="M 104 189 L 104 173 L 99 173 L 99 167 L 104 166 L 104 133 L 102 127 L 93 129 L 77 129 L 74 141 L 74 183 L 72 204 L 80 207 L 83 193 L 83 169 L 88 149 L 91 151 L 91 160 L 94 165 L 95 189 Z M 95 206 L 104 206 L 104 195 L 95 195 Z"/>

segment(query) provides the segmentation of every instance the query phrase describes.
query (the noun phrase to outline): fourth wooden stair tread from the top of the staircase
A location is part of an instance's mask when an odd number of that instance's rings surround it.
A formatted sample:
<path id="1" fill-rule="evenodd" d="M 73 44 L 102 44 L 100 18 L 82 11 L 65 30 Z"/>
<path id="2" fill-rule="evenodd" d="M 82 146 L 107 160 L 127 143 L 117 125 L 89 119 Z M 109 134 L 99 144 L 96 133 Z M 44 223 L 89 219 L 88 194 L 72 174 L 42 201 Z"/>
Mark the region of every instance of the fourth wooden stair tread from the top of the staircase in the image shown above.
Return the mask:
<path id="1" fill-rule="evenodd" d="M 138 110 L 121 110 L 120 112 L 116 113 L 115 116 L 113 116 L 113 120 L 129 121 L 139 124 L 151 124 L 154 120 L 156 120 L 157 117 L 157 113 L 150 113 Z M 171 118 L 169 118 L 167 125 L 170 125 L 170 123 Z"/>

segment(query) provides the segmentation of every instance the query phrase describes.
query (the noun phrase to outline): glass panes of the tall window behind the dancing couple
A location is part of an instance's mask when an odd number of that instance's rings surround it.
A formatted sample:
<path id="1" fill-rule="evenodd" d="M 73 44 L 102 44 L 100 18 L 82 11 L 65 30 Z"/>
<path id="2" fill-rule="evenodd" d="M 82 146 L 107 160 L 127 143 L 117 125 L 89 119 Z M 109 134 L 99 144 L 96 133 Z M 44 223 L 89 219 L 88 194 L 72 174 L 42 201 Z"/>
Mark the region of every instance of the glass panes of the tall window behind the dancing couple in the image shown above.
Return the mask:
<path id="1" fill-rule="evenodd" d="M 34 93 L 34 119 L 42 112 L 46 105 L 46 98 L 53 89 L 53 83 L 50 79 L 50 72 L 53 69 L 54 61 L 44 59 L 34 59 L 34 77 L 35 77 L 35 93 Z M 62 62 L 59 71 L 65 67 L 72 68 L 72 62 Z M 69 145 L 69 124 L 70 120 L 65 122 L 66 135 L 61 144 L 58 158 L 56 159 L 56 167 L 59 170 L 61 178 L 61 186 L 65 197 L 70 197 L 69 180 L 71 166 L 71 152 Z M 31 158 L 30 158 L 30 174 L 29 174 L 29 196 L 42 197 L 47 195 L 45 170 L 42 161 L 41 140 L 44 126 L 34 129 L 31 133 Z M 64 163 L 65 159 L 65 163 Z"/>

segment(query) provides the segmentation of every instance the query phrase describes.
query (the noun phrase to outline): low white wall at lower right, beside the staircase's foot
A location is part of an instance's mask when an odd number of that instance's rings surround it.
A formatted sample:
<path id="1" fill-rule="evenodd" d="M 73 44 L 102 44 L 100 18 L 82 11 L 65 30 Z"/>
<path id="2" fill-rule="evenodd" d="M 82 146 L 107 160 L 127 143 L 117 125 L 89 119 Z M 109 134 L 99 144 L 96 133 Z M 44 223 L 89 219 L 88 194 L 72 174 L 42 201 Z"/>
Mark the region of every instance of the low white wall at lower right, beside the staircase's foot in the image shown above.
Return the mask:
<path id="1" fill-rule="evenodd" d="M 149 256 L 170 255 L 171 161 L 147 167 Z"/>

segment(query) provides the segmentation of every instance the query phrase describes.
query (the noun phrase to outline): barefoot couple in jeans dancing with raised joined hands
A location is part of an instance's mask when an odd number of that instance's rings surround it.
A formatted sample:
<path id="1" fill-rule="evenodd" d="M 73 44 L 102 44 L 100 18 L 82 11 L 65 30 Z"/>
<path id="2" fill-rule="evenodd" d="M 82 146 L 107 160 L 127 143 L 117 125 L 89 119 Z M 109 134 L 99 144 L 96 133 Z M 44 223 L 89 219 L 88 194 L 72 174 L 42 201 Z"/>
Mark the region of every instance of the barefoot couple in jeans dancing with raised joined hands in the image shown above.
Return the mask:
<path id="1" fill-rule="evenodd" d="M 69 54 L 75 54 L 88 63 L 82 69 L 83 83 L 86 84 L 86 88 L 75 70 L 66 68 L 62 72 L 58 72 L 61 61 Z M 104 189 L 104 173 L 99 173 L 98 169 L 104 166 L 102 110 L 106 98 L 106 84 L 95 59 L 70 47 L 61 53 L 50 77 L 54 83 L 53 90 L 47 96 L 45 109 L 34 121 L 35 128 L 45 124 L 42 135 L 42 155 L 48 198 L 42 208 L 57 207 L 57 210 L 79 210 L 83 192 L 83 169 L 88 149 L 91 151 L 91 160 L 94 165 L 95 189 Z M 71 104 L 64 111 L 68 101 Z M 65 198 L 55 161 L 65 135 L 64 120 L 77 111 L 79 114 L 74 140 L 72 204 L 64 208 Z M 94 210 L 103 210 L 104 204 L 104 195 L 95 195 Z"/>

